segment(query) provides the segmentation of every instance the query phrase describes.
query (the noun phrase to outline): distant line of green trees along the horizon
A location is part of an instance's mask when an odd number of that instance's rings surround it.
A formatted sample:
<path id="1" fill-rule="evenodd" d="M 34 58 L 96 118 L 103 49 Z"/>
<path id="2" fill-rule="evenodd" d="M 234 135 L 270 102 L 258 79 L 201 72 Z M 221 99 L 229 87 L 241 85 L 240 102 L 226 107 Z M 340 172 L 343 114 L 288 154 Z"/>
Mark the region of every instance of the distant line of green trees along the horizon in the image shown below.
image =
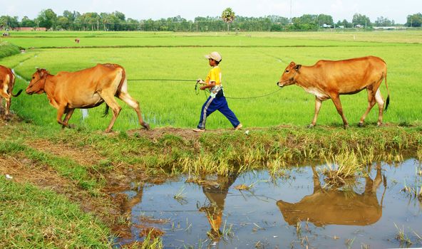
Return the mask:
<path id="1" fill-rule="evenodd" d="M 226 9 L 227 11 L 227 9 Z M 230 9 L 231 11 L 231 9 Z M 231 14 L 231 13 L 230 13 Z M 354 14 L 351 22 L 344 19 L 334 23 L 332 16 L 326 14 L 305 14 L 292 20 L 283 16 L 246 17 L 234 16 L 227 22 L 227 13 L 222 16 L 196 17 L 193 21 L 175 16 L 170 18 L 140 19 L 126 18 L 125 14 L 63 11 L 57 15 L 52 9 L 42 10 L 34 19 L 24 16 L 0 16 L 0 28 L 43 27 L 47 30 L 66 31 L 289 31 L 316 30 L 318 28 L 354 28 L 356 26 L 371 28 L 374 26 L 398 26 L 393 20 L 379 17 L 371 22 L 368 16 Z M 226 15 L 226 16 L 225 16 Z M 231 16 L 230 16 L 231 17 Z M 422 14 L 411 14 L 403 26 L 421 27 Z"/>

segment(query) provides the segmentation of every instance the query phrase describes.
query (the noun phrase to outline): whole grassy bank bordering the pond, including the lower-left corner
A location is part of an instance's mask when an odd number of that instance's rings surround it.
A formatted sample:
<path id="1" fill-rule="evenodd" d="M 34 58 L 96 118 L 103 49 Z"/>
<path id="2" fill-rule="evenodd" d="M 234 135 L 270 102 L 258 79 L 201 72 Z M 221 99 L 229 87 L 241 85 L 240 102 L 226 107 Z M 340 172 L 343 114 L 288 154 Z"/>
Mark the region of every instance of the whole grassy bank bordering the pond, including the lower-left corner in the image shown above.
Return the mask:
<path id="1" fill-rule="evenodd" d="M 130 226 L 130 218 L 121 212 L 125 198 L 119 201 L 110 194 L 134 181 L 251 169 L 267 169 L 277 177 L 287 167 L 309 161 L 341 164 L 336 161 L 342 158 L 336 157 L 339 154 L 353 155 L 362 165 L 422 154 L 421 127 L 287 126 L 248 131 L 195 134 L 190 129 L 157 128 L 104 134 L 57 131 L 16 119 L 2 122 L 0 223 L 2 228 L 14 228 L 13 235 L 8 229 L 1 233 L 12 238 L 2 245 L 109 247 L 107 238 L 128 233 Z M 4 179 L 5 174 L 14 179 Z M 40 179 L 54 180 L 47 184 Z M 34 223 L 34 216 L 44 217 L 43 223 Z"/>

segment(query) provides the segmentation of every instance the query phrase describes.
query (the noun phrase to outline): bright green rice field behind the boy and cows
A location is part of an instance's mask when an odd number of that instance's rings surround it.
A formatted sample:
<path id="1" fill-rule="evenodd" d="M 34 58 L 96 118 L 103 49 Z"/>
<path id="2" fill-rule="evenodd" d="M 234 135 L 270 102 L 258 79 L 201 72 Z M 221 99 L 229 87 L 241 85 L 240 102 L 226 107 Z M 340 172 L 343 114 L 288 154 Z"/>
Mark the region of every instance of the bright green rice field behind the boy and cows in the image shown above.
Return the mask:
<path id="1" fill-rule="evenodd" d="M 78 37 L 81 43 L 74 43 Z M 29 79 L 36 67 L 51 73 L 80 70 L 96 63 L 123 65 L 129 80 L 205 78 L 208 70 L 203 55 L 219 51 L 223 85 L 227 97 L 253 97 L 277 90 L 275 83 L 290 61 L 313 65 L 317 60 L 341 60 L 376 55 L 388 65 L 391 106 L 384 122 L 420 124 L 422 120 L 422 31 L 312 32 L 312 33 L 137 33 L 137 32 L 15 32 L 3 38 L 26 49 L 25 53 L 0 60 Z M 26 88 L 19 80 L 16 90 Z M 193 82 L 130 81 L 129 92 L 140 101 L 143 115 L 152 127 L 195 127 L 205 95 L 195 95 Z M 386 87 L 381 85 L 386 97 Z M 314 96 L 290 86 L 274 95 L 257 99 L 228 100 L 245 127 L 279 124 L 304 126 L 312 120 Z M 341 96 L 350 124 L 357 124 L 366 109 L 366 91 Z M 121 102 L 120 102 L 121 103 Z M 123 111 L 115 130 L 135 129 L 135 112 L 121 103 Z M 12 109 L 36 124 L 55 125 L 56 110 L 45 95 L 21 95 Z M 375 111 L 374 111 L 375 110 Z M 376 122 L 376 108 L 366 122 Z M 103 107 L 89 110 L 82 120 L 75 112 L 71 123 L 87 129 L 105 129 L 110 117 L 101 118 Z M 331 100 L 324 102 L 317 124 L 339 126 L 341 117 Z M 230 128 L 230 123 L 213 114 L 208 129 Z M 57 129 L 59 126 L 57 124 Z"/>

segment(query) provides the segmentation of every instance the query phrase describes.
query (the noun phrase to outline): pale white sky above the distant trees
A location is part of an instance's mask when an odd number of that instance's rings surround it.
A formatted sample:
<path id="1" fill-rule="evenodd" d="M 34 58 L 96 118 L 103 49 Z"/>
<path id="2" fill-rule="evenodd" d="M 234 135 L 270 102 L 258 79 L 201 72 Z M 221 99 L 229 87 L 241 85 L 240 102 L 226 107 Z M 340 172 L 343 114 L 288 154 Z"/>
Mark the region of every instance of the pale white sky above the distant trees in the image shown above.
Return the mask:
<path id="1" fill-rule="evenodd" d="M 372 22 L 383 16 L 396 23 L 406 23 L 408 15 L 422 12 L 422 0 L 0 0 L 0 6 L 0 16 L 19 16 L 19 21 L 24 16 L 36 18 L 43 9 L 53 9 L 58 16 L 65 10 L 81 14 L 120 11 L 136 20 L 173 16 L 193 20 L 196 16 L 220 16 L 224 9 L 232 8 L 236 16 L 327 14 L 336 22 L 351 21 L 358 13 Z"/>

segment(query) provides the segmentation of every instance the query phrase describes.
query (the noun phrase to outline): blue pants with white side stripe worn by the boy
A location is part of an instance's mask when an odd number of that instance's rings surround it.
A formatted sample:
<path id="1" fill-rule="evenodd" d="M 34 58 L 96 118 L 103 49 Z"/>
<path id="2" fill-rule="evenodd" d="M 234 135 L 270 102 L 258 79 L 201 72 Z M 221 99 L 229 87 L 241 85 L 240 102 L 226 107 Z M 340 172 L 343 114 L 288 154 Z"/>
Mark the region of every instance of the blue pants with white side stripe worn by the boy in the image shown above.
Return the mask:
<path id="1" fill-rule="evenodd" d="M 222 97 L 208 97 L 207 101 L 205 101 L 204 105 L 202 105 L 201 110 L 201 117 L 200 122 L 197 125 L 200 129 L 205 129 L 205 122 L 207 121 L 207 117 L 210 116 L 212 112 L 215 112 L 216 110 L 219 110 L 222 115 L 225 115 L 227 117 L 227 120 L 229 120 L 233 127 L 237 127 L 237 125 L 240 124 L 239 120 L 237 120 L 237 117 L 235 113 L 230 110 L 229 105 L 227 105 L 227 100 L 224 96 Z"/>

